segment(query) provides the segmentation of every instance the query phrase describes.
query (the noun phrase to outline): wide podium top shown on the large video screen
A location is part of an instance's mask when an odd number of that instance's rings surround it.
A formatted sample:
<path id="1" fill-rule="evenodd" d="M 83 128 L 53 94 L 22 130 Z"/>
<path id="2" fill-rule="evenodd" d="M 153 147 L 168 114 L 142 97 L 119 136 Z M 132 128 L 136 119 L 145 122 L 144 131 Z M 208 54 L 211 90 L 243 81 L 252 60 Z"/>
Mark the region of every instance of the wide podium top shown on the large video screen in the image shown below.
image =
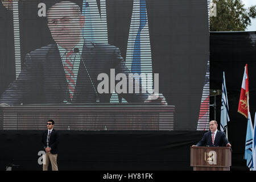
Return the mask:
<path id="1" fill-rule="evenodd" d="M 0 106 L 0 130 L 174 130 L 175 106 L 59 104 Z"/>

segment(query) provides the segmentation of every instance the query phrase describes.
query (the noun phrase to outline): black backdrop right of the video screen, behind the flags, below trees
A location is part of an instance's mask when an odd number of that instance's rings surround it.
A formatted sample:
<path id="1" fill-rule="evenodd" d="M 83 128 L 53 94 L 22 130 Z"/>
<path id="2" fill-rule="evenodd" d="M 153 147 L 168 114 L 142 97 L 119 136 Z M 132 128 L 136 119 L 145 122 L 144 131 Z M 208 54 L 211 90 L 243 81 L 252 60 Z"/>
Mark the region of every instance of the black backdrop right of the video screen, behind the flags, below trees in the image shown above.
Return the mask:
<path id="1" fill-rule="evenodd" d="M 256 35 L 255 32 L 210 32 L 210 89 L 220 89 L 225 71 L 229 101 L 228 138 L 234 151 L 244 153 L 247 119 L 238 110 L 244 67 L 248 65 L 249 105 L 254 123 L 256 111 Z M 210 97 L 213 104 L 214 97 Z M 220 122 L 221 95 L 216 96 L 216 119 Z M 210 119 L 214 118 L 213 107 Z"/>

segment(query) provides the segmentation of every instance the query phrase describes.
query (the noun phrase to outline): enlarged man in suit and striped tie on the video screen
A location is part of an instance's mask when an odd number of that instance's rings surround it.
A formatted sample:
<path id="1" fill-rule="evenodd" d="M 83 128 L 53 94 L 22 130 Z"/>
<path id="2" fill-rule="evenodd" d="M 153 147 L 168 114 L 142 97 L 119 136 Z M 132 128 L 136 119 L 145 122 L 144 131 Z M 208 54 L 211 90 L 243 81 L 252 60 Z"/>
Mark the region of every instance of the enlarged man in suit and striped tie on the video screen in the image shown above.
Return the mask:
<path id="1" fill-rule="evenodd" d="M 130 72 L 119 49 L 82 38 L 85 19 L 73 2 L 53 5 L 47 11 L 47 20 L 56 44 L 27 53 L 22 72 L 2 94 L 0 104 L 110 102 L 113 90 L 98 94 L 97 76 L 106 73 L 110 77 L 110 69 L 115 69 L 115 75 L 125 73 L 128 77 Z M 127 93 L 120 94 L 127 102 L 159 100 L 167 104 L 163 97 Z"/>

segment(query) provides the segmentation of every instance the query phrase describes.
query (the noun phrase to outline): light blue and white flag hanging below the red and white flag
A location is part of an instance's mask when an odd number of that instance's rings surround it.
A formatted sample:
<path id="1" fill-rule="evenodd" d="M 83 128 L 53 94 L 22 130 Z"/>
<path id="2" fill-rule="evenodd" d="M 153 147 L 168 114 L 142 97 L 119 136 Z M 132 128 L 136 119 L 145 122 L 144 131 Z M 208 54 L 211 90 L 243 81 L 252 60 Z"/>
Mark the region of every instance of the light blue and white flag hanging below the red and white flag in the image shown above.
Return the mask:
<path id="1" fill-rule="evenodd" d="M 246 131 L 246 142 L 245 142 L 245 156 L 247 160 L 247 167 L 253 168 L 253 123 L 251 123 L 251 114 L 248 112 L 247 131 Z"/>

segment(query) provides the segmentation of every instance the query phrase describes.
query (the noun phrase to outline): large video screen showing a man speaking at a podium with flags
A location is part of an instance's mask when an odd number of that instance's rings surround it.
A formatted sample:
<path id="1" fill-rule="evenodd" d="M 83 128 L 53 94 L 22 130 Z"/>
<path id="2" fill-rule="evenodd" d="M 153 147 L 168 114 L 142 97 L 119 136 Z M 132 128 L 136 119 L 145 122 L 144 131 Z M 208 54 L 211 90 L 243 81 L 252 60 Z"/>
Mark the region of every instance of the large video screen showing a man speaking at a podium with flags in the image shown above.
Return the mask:
<path id="1" fill-rule="evenodd" d="M 0 129 L 207 130 L 206 1 L 0 1 Z"/>

